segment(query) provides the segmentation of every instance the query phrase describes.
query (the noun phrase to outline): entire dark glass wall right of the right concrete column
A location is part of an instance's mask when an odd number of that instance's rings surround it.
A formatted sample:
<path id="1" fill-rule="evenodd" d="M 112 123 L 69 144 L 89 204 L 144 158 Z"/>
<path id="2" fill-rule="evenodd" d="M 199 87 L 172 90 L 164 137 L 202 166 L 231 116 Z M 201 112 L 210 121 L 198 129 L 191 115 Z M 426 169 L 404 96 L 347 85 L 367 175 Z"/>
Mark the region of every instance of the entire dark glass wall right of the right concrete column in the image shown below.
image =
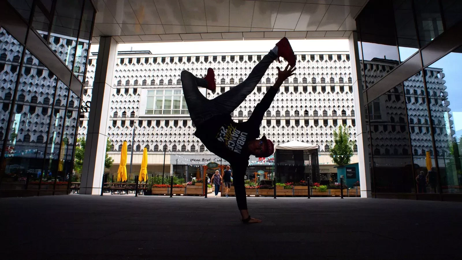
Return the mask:
<path id="1" fill-rule="evenodd" d="M 376 197 L 462 193 L 462 40 L 455 50 L 433 47 L 444 33 L 460 38 L 451 27 L 460 26 L 461 8 L 450 0 L 371 0 L 356 20 Z"/>

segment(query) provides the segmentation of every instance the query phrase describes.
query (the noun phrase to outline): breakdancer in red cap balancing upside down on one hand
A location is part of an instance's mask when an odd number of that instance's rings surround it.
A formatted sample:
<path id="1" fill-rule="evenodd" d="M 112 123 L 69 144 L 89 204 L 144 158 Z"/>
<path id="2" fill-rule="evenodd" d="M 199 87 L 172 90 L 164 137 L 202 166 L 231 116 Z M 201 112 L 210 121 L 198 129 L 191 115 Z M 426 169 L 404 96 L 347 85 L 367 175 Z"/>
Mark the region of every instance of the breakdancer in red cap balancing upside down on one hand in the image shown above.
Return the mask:
<path id="1" fill-rule="evenodd" d="M 230 116 L 231 112 L 255 89 L 269 65 L 279 57 L 286 59 L 289 64 L 284 70 L 278 68 L 278 80 L 274 86 L 270 87 L 261 102 L 255 106 L 249 120 L 243 123 L 234 122 Z M 246 80 L 210 100 L 201 94 L 198 87 L 215 90 L 215 75 L 212 68 L 207 70 L 207 76 L 202 79 L 186 70 L 181 72 L 184 98 L 189 115 L 196 126 L 194 135 L 201 139 L 209 151 L 230 162 L 237 207 L 244 223 L 261 222 L 251 218 L 247 210 L 244 175 L 249 165 L 249 155 L 268 157 L 274 152 L 273 142 L 267 140 L 265 136 L 257 139 L 260 136 L 260 124 L 282 82 L 293 75 L 294 66 L 295 55 L 289 41 L 284 37 L 261 59 Z"/>

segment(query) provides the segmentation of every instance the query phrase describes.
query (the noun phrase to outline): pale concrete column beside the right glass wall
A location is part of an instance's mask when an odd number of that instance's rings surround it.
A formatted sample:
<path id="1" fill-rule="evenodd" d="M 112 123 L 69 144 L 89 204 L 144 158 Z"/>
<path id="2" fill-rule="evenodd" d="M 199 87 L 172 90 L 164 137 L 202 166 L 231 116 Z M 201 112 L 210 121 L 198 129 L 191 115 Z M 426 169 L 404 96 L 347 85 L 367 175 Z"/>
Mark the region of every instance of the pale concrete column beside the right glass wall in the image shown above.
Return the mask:
<path id="1" fill-rule="evenodd" d="M 356 141 L 358 145 L 359 183 L 361 198 L 371 198 L 371 172 L 369 167 L 369 133 L 366 128 L 366 114 L 361 83 L 361 66 L 359 63 L 358 37 L 353 32 L 348 38 L 350 45 L 351 73 L 356 121 Z"/>

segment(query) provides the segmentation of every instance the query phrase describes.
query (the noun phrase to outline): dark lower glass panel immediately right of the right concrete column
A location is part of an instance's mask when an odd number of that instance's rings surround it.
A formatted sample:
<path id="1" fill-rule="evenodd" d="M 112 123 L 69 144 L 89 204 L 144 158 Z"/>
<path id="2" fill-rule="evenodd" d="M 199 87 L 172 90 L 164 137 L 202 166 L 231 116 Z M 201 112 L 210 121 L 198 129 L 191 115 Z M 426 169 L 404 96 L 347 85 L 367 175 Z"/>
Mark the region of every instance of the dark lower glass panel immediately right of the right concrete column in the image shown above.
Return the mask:
<path id="1" fill-rule="evenodd" d="M 398 85 L 368 104 L 375 192 L 415 191 L 406 125 L 406 105 Z M 370 156 L 371 158 L 371 156 Z"/>

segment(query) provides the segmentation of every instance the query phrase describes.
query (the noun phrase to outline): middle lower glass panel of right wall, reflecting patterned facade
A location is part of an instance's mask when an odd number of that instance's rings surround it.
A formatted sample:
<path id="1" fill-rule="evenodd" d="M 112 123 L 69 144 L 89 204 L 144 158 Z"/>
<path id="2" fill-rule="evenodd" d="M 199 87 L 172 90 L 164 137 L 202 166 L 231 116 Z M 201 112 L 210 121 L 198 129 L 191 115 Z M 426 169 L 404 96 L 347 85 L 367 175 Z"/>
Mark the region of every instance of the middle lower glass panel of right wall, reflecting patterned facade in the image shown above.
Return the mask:
<path id="1" fill-rule="evenodd" d="M 434 183 L 428 183 L 427 160 L 435 165 L 435 151 L 433 151 L 432 133 L 430 130 L 429 114 L 426 104 L 424 79 L 419 72 L 403 82 L 409 131 L 411 135 L 411 152 L 414 159 L 414 178 L 418 193 L 435 193 L 437 190 L 436 179 Z M 429 155 L 427 155 L 427 151 Z"/>

